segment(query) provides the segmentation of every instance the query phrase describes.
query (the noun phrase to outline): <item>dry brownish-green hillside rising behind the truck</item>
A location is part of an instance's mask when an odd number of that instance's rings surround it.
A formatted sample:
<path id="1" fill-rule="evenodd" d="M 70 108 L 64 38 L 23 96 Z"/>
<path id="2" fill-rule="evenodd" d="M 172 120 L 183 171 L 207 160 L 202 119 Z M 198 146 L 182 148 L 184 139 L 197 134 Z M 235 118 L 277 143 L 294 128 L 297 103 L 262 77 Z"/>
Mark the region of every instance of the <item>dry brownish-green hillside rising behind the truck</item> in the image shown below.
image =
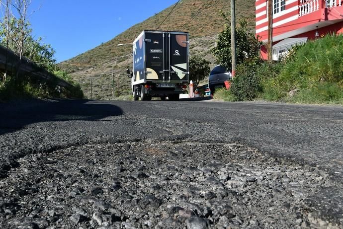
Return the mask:
<path id="1" fill-rule="evenodd" d="M 242 17 L 246 18 L 249 28 L 254 30 L 255 0 L 236 0 L 235 2 L 237 20 Z M 229 3 L 228 0 L 180 0 L 172 12 L 174 5 L 132 26 L 112 40 L 62 62 L 60 67 L 80 82 L 88 98 L 90 98 L 90 78 L 92 78 L 93 99 L 111 98 L 110 73 L 113 67 L 115 72 L 122 73 L 119 76 L 120 94 L 127 94 L 130 90 L 130 80 L 123 73 L 127 66 L 132 68 L 131 46 L 117 46 L 117 44 L 132 43 L 135 36 L 139 35 L 142 30 L 156 30 L 170 12 L 170 16 L 158 30 L 189 32 L 190 55 L 198 53 L 214 65 L 214 57 L 210 49 L 215 45 L 216 35 L 222 31 L 225 24 L 219 10 L 230 15 Z M 106 74 L 101 74 L 103 72 Z M 117 76 L 115 90 L 117 90 Z"/>

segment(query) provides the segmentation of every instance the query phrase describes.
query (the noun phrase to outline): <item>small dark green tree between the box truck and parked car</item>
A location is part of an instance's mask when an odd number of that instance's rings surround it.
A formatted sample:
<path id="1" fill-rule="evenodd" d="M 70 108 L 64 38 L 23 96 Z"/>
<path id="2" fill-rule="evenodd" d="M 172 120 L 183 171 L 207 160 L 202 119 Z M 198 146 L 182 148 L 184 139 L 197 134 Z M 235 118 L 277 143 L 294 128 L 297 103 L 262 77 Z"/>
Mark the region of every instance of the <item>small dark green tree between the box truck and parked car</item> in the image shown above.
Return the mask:
<path id="1" fill-rule="evenodd" d="M 199 84 L 200 80 L 204 79 L 210 73 L 210 62 L 199 57 L 193 56 L 189 59 L 189 80 Z"/>

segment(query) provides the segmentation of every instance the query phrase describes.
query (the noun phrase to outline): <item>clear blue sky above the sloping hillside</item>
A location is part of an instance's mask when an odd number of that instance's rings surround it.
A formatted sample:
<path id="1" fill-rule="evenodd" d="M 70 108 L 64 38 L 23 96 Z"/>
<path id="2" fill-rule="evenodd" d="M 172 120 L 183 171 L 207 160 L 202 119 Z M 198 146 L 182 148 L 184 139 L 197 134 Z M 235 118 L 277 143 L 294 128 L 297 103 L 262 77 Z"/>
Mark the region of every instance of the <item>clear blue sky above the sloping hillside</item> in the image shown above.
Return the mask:
<path id="1" fill-rule="evenodd" d="M 177 0 L 32 0 L 33 35 L 68 60 L 114 38 Z"/>

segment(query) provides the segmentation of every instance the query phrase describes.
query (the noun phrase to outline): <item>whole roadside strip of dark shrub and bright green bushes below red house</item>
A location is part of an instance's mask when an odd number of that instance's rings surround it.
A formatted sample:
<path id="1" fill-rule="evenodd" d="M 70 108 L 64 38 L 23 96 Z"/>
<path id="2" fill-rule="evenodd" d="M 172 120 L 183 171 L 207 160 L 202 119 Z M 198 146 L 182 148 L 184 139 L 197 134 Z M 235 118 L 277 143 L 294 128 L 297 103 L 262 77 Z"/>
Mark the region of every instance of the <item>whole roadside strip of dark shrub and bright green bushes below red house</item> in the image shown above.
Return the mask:
<path id="1" fill-rule="evenodd" d="M 218 91 L 215 97 L 343 104 L 342 50 L 343 35 L 328 35 L 294 47 L 273 64 L 246 60 L 237 66 L 230 92 Z"/>

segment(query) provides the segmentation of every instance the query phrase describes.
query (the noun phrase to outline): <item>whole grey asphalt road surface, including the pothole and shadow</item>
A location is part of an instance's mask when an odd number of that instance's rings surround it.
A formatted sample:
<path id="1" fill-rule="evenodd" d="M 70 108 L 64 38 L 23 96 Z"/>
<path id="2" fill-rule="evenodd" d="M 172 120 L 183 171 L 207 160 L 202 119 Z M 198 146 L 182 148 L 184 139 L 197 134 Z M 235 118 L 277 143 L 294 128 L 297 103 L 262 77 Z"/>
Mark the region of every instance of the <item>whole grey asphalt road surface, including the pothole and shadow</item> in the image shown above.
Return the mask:
<path id="1" fill-rule="evenodd" d="M 342 228 L 343 108 L 0 104 L 1 228 Z"/>

